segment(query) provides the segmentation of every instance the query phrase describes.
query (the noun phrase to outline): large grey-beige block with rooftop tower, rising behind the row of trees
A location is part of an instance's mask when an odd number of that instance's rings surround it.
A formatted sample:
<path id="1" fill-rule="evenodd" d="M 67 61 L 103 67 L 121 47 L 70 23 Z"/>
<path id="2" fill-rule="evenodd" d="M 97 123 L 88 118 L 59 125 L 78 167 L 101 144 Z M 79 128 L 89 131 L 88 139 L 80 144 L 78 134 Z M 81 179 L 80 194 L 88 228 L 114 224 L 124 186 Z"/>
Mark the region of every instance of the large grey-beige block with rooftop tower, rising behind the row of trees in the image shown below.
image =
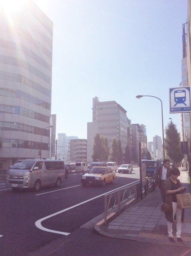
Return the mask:
<path id="1" fill-rule="evenodd" d="M 92 151 L 96 133 L 108 140 L 109 151 L 113 138 L 121 141 L 122 152 L 127 146 L 127 111 L 115 101 L 99 102 L 93 98 L 92 122 L 87 129 L 87 161 L 92 162 Z"/>

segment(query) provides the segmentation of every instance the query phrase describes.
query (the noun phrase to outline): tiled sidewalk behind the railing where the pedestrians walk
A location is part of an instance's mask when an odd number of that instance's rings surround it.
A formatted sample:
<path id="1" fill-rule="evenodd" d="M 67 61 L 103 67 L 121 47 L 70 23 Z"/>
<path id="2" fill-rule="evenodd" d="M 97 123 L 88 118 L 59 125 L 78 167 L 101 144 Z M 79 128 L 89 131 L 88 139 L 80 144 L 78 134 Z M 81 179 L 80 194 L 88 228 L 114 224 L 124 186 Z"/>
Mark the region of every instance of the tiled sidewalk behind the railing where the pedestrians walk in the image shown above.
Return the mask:
<path id="1" fill-rule="evenodd" d="M 179 180 L 184 187 L 188 188 L 187 192 L 190 192 L 188 172 L 185 168 L 180 168 L 180 172 Z M 111 238 L 191 247 L 191 208 L 185 209 L 185 221 L 182 224 L 181 234 L 184 242 L 176 240 L 175 222 L 173 223 L 173 235 L 176 242 L 172 243 L 168 239 L 167 220 L 161 211 L 161 193 L 158 187 L 143 200 L 131 204 L 107 225 L 98 222 L 94 228 L 99 234 Z"/>

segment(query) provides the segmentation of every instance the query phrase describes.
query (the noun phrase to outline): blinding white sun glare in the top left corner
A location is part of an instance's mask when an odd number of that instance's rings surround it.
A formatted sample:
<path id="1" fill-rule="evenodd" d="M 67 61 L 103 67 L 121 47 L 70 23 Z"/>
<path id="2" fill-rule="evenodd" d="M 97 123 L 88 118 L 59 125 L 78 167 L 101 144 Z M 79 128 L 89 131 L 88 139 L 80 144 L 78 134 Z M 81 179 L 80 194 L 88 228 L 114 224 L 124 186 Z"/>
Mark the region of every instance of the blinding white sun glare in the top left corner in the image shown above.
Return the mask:
<path id="1" fill-rule="evenodd" d="M 27 2 L 28 0 L 0 0 L 0 5 L 4 9 L 4 12 L 8 14 L 20 11 L 22 6 Z"/>

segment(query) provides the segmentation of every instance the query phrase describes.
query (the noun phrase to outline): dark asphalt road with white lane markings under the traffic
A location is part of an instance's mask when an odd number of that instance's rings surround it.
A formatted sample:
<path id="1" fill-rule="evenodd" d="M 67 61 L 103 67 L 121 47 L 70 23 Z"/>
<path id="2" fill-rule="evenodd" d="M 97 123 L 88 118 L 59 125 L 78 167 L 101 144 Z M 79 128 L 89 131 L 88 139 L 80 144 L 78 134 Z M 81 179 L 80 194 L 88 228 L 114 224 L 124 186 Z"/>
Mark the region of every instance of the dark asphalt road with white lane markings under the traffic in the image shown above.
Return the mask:
<path id="1" fill-rule="evenodd" d="M 38 193 L 13 192 L 1 181 L 0 256 L 149 256 L 161 252 L 163 245 L 148 247 L 141 242 L 105 238 L 95 234 L 93 226 L 82 228 L 103 212 L 105 193 L 139 179 L 138 168 L 132 174 L 117 173 L 114 184 L 105 187 L 83 187 L 81 176 L 73 173 L 60 188 L 42 188 Z M 173 251 L 174 256 L 180 256 L 186 249 Z M 171 255 L 169 249 L 167 252 L 158 255 Z"/>

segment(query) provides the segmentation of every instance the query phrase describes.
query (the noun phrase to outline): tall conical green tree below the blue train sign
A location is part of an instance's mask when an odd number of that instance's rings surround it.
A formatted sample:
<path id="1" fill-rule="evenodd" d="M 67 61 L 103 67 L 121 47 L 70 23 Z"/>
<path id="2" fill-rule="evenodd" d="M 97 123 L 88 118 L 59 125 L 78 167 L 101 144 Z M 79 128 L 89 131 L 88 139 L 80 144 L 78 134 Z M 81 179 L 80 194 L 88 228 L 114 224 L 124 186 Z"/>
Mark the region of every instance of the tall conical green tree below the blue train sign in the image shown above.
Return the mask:
<path id="1" fill-rule="evenodd" d="M 169 122 L 165 128 L 165 150 L 173 164 L 182 161 L 180 134 L 173 122 Z"/>

